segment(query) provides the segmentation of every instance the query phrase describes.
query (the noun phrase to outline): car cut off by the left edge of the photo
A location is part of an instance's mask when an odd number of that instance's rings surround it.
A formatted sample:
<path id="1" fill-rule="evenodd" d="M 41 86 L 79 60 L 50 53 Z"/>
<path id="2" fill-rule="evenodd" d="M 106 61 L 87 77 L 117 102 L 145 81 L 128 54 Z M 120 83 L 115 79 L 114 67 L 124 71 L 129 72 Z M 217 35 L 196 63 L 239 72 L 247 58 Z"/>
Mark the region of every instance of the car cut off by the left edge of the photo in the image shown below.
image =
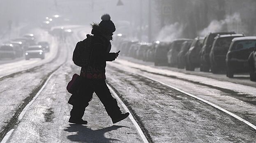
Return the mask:
<path id="1" fill-rule="evenodd" d="M 16 58 L 16 51 L 12 44 L 2 44 L 0 46 L 0 58 Z"/>

